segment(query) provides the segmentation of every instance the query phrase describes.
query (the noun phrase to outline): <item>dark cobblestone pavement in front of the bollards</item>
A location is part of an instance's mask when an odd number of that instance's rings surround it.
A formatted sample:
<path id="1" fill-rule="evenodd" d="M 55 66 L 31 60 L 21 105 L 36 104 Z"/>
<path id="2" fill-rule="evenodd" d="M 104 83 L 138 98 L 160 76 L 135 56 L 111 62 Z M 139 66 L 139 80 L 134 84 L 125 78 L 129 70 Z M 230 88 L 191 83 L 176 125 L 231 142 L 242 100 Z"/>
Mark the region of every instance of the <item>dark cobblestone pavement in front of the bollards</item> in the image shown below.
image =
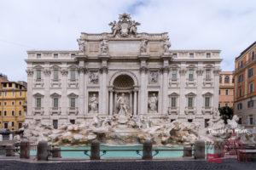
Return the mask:
<path id="1" fill-rule="evenodd" d="M 79 170 L 79 169 L 90 169 L 90 170 L 255 170 L 256 162 L 237 162 L 224 161 L 223 163 L 210 163 L 207 161 L 88 161 L 88 162 L 22 162 L 22 161 L 3 161 L 0 160 L 1 170 Z"/>

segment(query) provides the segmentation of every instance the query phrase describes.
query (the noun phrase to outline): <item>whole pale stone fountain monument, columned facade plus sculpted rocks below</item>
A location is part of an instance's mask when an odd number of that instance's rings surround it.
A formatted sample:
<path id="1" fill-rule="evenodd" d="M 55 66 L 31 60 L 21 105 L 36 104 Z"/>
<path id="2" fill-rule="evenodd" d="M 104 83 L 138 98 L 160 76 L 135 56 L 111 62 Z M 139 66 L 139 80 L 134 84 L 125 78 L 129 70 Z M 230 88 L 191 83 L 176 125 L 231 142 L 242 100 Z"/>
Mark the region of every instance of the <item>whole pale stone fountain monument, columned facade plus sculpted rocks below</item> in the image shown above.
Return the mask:
<path id="1" fill-rule="evenodd" d="M 79 50 L 28 51 L 24 136 L 84 145 L 192 144 L 229 139 L 218 112 L 219 50 L 170 50 L 167 33 L 138 33 L 120 14 L 112 32 L 82 33 Z M 252 133 L 238 133 L 255 142 Z"/>

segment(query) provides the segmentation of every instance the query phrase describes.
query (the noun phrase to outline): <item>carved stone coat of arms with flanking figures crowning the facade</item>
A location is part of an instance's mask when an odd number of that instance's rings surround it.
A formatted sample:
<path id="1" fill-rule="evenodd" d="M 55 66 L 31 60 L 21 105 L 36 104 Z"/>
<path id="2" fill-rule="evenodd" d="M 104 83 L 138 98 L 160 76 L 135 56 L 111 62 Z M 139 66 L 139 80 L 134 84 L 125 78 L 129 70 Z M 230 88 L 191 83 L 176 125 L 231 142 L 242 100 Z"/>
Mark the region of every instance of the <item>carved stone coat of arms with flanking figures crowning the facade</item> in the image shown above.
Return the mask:
<path id="1" fill-rule="evenodd" d="M 130 14 L 119 14 L 119 21 L 116 22 L 115 20 L 109 23 L 109 26 L 112 26 L 112 33 L 113 37 L 120 36 L 120 37 L 128 37 L 128 36 L 136 36 L 137 35 L 137 26 L 140 23 L 136 22 L 135 20 L 131 20 Z"/>

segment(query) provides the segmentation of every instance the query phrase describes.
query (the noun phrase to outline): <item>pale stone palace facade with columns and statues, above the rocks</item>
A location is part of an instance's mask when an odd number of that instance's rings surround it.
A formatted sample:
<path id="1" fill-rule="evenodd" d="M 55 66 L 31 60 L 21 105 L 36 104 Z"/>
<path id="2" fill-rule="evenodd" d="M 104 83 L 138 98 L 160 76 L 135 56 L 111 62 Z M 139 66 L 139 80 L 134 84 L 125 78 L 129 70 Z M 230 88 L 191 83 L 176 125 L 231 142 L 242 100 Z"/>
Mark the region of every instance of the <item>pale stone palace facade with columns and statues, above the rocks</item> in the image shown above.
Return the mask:
<path id="1" fill-rule="evenodd" d="M 169 50 L 167 33 L 137 33 L 122 14 L 79 50 L 28 51 L 26 120 L 54 127 L 93 116 L 205 122 L 218 109 L 219 50 Z"/>

